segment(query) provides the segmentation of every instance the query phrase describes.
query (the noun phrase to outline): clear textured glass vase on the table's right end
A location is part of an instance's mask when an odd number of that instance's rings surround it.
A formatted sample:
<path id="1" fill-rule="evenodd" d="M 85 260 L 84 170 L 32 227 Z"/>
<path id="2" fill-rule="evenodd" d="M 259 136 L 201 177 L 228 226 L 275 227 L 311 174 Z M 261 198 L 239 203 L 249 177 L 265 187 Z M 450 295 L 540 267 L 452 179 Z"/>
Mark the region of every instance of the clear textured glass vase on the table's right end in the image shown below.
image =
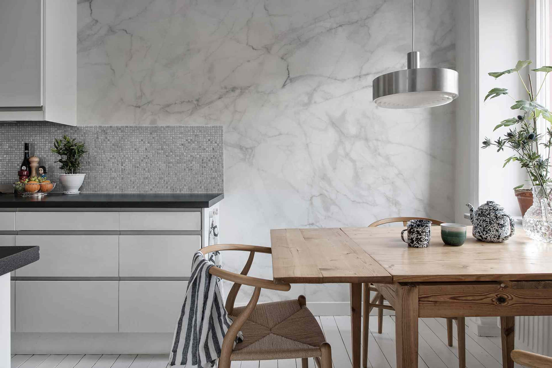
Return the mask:
<path id="1" fill-rule="evenodd" d="M 547 200 L 548 197 L 548 200 Z M 552 243 L 552 184 L 533 186 L 533 205 L 523 216 L 523 230 L 533 240 Z"/>

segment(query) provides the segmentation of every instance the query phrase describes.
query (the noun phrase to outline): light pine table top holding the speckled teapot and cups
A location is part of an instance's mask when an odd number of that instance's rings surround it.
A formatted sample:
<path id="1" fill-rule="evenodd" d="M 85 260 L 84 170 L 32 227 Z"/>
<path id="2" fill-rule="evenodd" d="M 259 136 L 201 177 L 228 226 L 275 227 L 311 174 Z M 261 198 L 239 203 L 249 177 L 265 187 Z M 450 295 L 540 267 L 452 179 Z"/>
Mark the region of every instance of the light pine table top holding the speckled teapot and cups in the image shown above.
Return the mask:
<path id="1" fill-rule="evenodd" d="M 433 282 L 552 280 L 552 244 L 535 242 L 522 228 L 503 243 L 475 239 L 443 244 L 432 227 L 427 248 L 402 242 L 404 227 L 271 230 L 276 282 Z"/>

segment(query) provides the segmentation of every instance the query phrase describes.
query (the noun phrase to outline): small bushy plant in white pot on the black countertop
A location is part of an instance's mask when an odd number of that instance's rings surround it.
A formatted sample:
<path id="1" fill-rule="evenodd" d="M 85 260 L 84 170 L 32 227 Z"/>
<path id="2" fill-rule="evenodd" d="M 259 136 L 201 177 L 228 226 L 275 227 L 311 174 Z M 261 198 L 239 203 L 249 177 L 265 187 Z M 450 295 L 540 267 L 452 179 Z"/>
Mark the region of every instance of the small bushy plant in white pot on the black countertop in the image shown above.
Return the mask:
<path id="1" fill-rule="evenodd" d="M 65 172 L 60 175 L 60 182 L 65 189 L 63 194 L 81 193 L 78 189 L 81 188 L 86 174 L 78 173 L 78 170 L 81 168 L 81 158 L 87 152 L 84 143 L 63 135 L 61 139 L 54 138 L 54 148 L 50 148 L 50 151 L 60 155 L 56 162 L 61 164 L 60 169 Z"/>

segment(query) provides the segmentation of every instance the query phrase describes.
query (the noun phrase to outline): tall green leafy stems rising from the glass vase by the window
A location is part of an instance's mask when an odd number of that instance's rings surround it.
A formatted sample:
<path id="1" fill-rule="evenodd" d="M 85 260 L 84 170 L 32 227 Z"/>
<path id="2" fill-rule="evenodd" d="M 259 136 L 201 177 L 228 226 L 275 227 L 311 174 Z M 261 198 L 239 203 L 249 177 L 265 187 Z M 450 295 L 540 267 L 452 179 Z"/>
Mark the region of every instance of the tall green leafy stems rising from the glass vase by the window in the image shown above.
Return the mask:
<path id="1" fill-rule="evenodd" d="M 552 66 L 543 66 L 538 69 L 532 69 L 534 72 L 546 73 L 544 75 L 543 82 L 540 84 L 539 90 L 535 94 L 530 74 L 528 74 L 527 84 L 521 77 L 521 74 L 519 74 L 519 71 L 527 67 L 531 62 L 532 61 L 530 60 L 520 60 L 517 62 L 516 67 L 512 69 L 508 69 L 503 72 L 489 73 L 489 75 L 491 77 L 495 77 L 495 79 L 505 74 L 511 74 L 514 72 L 517 73 L 527 92 L 528 98 L 516 100 L 509 95 L 508 89 L 506 88 L 493 88 L 489 91 L 489 93 L 487 93 L 484 102 L 487 99 L 490 100 L 501 95 L 507 95 L 509 98 L 514 100 L 514 104 L 510 108 L 512 110 L 521 110 L 522 114 L 514 116 L 513 118 L 502 120 L 500 124 L 495 126 L 493 131 L 500 127 L 513 127 L 510 128 L 503 137 L 499 137 L 496 141 L 491 141 L 489 138 L 485 137 L 481 148 L 489 148 L 493 146 L 497 148 L 497 152 L 500 152 L 504 151 L 504 148 L 506 147 L 514 151 L 515 154 L 508 157 L 502 167 L 505 167 L 508 163 L 513 161 L 519 162 L 521 167 L 526 169 L 531 184 L 533 186 L 542 185 L 546 193 L 544 184 L 552 182 L 549 178 L 552 130 L 548 127 L 546 129 L 546 133 L 539 134 L 537 131 L 537 120 L 543 118 L 549 122 L 552 122 L 552 113 L 550 113 L 550 111 L 543 105 L 537 103 L 536 100 L 540 90 L 543 88 L 546 77 L 548 77 L 548 73 L 552 72 Z M 539 146 L 541 148 L 540 150 Z M 519 189 L 522 186 L 523 184 L 518 185 L 514 189 Z M 548 201 L 551 194 L 550 192 L 552 192 L 552 189 L 550 189 L 549 193 L 546 193 L 546 201 Z"/>

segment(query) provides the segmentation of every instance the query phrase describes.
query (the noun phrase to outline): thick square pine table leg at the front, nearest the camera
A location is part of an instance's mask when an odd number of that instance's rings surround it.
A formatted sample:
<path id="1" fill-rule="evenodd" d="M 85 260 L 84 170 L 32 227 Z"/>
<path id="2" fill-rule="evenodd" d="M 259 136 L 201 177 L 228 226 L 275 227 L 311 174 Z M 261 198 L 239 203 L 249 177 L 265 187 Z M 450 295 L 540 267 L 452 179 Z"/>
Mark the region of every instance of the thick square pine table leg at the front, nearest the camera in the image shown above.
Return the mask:
<path id="1" fill-rule="evenodd" d="M 418 368 L 418 286 L 396 284 L 397 368 Z"/>

